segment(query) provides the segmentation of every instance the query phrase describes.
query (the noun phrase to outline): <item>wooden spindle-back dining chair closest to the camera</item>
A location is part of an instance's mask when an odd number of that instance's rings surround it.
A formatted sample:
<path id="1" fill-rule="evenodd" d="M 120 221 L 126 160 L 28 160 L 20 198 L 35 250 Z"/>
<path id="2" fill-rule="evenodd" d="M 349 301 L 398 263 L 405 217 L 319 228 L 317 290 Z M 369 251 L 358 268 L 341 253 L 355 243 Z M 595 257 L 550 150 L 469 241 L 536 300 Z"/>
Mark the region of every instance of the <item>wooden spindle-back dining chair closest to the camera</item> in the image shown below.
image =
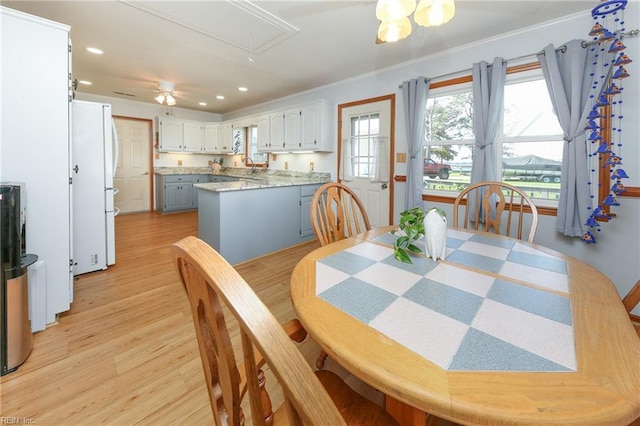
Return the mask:
<path id="1" fill-rule="evenodd" d="M 190 236 L 175 243 L 171 251 L 191 305 L 216 425 L 244 425 L 241 402 L 245 396 L 255 425 L 271 425 L 279 416 L 286 416 L 293 425 L 397 424 L 380 406 L 355 392 L 336 374 L 314 374 L 291 340 L 305 339 L 306 331 L 300 323 L 293 320 L 281 326 L 213 248 Z M 240 328 L 241 358 L 236 358 L 223 307 Z M 237 359 L 244 362 L 238 363 Z M 265 363 L 284 395 L 282 409 L 275 413 L 265 390 Z M 282 424 L 279 420 L 278 424 Z"/>

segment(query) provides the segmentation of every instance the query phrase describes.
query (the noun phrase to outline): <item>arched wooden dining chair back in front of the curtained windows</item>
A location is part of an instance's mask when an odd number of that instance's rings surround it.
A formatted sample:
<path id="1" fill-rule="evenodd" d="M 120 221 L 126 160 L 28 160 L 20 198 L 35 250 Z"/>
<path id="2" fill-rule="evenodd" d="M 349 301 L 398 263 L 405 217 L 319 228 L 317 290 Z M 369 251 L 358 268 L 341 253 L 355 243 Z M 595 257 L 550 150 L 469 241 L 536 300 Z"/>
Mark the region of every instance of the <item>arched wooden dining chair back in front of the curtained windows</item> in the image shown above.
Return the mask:
<path id="1" fill-rule="evenodd" d="M 457 228 L 459 208 L 464 209 L 461 227 L 522 239 L 530 216 L 527 241 L 532 243 L 538 227 L 538 209 L 519 188 L 503 182 L 478 182 L 467 186 L 453 203 L 453 223 Z M 512 227 L 513 225 L 513 227 Z"/>

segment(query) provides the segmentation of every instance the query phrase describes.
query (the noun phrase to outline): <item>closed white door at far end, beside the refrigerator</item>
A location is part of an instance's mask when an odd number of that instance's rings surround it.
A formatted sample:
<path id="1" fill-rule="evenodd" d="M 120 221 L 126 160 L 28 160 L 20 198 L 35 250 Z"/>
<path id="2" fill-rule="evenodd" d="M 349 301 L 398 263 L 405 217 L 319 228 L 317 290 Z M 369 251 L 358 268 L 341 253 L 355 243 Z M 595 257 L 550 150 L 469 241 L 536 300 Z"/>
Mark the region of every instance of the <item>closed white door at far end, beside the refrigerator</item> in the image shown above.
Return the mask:
<path id="1" fill-rule="evenodd" d="M 120 213 L 151 210 L 151 121 L 115 118 L 120 155 L 113 186 Z"/>

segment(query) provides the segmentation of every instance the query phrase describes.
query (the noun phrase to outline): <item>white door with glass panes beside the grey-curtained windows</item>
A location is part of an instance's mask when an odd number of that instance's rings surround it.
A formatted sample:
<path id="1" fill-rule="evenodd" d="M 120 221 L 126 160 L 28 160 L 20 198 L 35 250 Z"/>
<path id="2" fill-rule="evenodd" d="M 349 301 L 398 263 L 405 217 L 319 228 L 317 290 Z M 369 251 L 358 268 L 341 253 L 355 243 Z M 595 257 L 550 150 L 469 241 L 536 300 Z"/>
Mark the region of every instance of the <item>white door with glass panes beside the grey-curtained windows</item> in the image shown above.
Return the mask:
<path id="1" fill-rule="evenodd" d="M 338 155 L 339 180 L 353 189 L 362 200 L 371 226 L 393 223 L 393 116 L 395 95 L 372 100 L 363 100 L 338 106 L 340 120 L 340 150 Z M 355 149 L 353 179 L 345 180 L 343 174 L 344 141 L 358 136 L 359 146 Z M 372 144 L 368 141 L 376 137 L 388 138 L 388 182 L 371 180 L 373 155 Z"/>

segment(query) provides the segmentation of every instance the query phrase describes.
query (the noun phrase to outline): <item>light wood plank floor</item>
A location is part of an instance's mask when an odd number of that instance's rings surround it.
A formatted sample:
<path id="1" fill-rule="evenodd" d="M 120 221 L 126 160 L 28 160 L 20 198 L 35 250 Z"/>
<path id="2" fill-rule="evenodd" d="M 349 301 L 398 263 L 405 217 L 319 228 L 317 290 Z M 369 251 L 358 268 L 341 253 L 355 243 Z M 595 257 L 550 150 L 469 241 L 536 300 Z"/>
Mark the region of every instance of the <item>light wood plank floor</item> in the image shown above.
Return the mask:
<path id="1" fill-rule="evenodd" d="M 196 212 L 118 216 L 116 265 L 76 277 L 71 310 L 36 333 L 27 361 L 0 380 L 1 415 L 39 426 L 212 424 L 188 301 L 169 253 L 187 235 L 197 235 Z M 316 247 L 307 243 L 236 269 L 284 322 L 294 317 L 291 271 Z M 315 342 L 300 348 L 313 365 Z M 346 376 L 335 364 L 328 368 Z M 277 407 L 278 387 L 267 380 Z M 355 378 L 347 381 L 381 401 Z"/>

